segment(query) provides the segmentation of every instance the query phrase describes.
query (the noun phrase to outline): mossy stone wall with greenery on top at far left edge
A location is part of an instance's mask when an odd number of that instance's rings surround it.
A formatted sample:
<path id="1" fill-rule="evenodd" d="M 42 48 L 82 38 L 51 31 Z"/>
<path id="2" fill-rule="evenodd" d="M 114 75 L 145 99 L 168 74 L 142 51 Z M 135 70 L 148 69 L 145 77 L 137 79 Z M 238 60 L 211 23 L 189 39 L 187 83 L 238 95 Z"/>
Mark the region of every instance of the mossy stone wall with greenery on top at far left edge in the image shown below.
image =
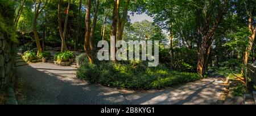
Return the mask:
<path id="1" fill-rule="evenodd" d="M 0 89 L 13 85 L 16 48 L 14 1 L 0 0 Z"/>

